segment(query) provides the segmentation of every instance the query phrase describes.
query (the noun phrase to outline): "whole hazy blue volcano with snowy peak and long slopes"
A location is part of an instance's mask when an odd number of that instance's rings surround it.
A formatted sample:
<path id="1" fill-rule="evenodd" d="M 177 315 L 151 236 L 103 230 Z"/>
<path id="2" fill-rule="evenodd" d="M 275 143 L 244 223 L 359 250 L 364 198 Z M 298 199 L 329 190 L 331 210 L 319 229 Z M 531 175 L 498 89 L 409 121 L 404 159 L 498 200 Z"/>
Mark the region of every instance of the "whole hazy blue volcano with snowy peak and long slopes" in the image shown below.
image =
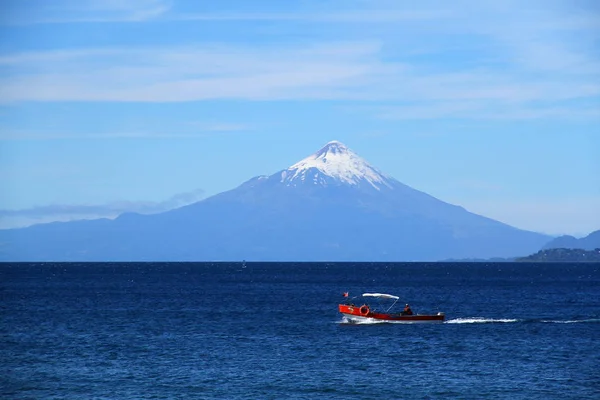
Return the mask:
<path id="1" fill-rule="evenodd" d="M 330 142 L 162 214 L 0 231 L 0 259 L 424 261 L 530 254 L 548 240 L 412 189 Z"/>

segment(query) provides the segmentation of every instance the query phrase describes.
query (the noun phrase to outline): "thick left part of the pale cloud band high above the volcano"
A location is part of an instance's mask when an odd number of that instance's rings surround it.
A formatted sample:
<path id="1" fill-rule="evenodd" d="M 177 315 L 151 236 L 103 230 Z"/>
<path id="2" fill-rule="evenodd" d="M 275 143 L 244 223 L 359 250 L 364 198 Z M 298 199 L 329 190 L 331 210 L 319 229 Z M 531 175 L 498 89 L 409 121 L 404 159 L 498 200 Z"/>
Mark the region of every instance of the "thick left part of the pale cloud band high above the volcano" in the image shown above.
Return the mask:
<path id="1" fill-rule="evenodd" d="M 9 76 L 0 79 L 0 99 L 176 102 L 317 98 L 324 95 L 319 91 L 348 89 L 353 80 L 379 69 L 377 61 L 369 60 L 373 48 L 364 43 L 335 43 L 304 48 L 202 46 L 14 55 L 0 59 L 0 65 L 9 69 Z"/>

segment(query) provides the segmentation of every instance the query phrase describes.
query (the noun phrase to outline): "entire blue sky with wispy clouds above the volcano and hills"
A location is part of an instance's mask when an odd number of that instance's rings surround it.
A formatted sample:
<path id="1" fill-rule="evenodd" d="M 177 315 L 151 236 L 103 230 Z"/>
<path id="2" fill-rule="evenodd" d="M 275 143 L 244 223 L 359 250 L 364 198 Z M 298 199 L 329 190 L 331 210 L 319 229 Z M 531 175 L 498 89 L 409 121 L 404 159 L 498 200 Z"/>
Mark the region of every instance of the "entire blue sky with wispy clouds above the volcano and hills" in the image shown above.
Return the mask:
<path id="1" fill-rule="evenodd" d="M 4 1 L 0 226 L 160 211 L 339 140 L 513 226 L 600 229 L 600 6 L 412 3 Z"/>

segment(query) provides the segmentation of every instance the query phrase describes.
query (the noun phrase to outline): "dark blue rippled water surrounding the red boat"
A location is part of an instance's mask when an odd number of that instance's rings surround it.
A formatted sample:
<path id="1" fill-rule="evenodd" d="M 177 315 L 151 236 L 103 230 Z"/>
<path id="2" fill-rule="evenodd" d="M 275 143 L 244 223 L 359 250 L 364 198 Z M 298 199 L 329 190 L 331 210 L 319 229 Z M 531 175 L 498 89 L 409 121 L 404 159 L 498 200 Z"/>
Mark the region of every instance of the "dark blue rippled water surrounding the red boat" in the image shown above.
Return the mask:
<path id="1" fill-rule="evenodd" d="M 600 264 L 0 264 L 3 399 L 600 398 Z M 342 293 L 434 325 L 344 324 Z"/>

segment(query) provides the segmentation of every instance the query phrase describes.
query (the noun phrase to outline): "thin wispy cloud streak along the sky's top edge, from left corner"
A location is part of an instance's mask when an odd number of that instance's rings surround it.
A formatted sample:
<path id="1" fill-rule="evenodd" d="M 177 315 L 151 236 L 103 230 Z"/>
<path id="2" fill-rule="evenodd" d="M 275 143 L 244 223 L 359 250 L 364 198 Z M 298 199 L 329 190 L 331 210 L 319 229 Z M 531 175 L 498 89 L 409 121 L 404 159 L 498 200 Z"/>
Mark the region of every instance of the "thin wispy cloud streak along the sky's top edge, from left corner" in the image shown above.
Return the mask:
<path id="1" fill-rule="evenodd" d="M 2 25 L 71 24 L 71 23 L 135 23 L 160 19 L 166 22 L 305 22 L 305 23 L 397 23 L 423 21 L 451 17 L 448 9 L 398 9 L 397 5 L 370 7 L 368 4 L 352 5 L 346 1 L 340 7 L 319 7 L 291 11 L 212 11 L 180 12 L 174 10 L 170 0 L 58 0 L 53 3 L 38 0 L 22 0 L 12 14 L 0 18 Z M 373 2 L 376 4 L 377 2 Z M 353 8 L 354 7 L 354 8 Z M 271 7 L 272 8 L 272 7 Z M 284 7 L 285 9 L 287 7 Z M 27 12 L 24 12 L 27 11 Z"/>

